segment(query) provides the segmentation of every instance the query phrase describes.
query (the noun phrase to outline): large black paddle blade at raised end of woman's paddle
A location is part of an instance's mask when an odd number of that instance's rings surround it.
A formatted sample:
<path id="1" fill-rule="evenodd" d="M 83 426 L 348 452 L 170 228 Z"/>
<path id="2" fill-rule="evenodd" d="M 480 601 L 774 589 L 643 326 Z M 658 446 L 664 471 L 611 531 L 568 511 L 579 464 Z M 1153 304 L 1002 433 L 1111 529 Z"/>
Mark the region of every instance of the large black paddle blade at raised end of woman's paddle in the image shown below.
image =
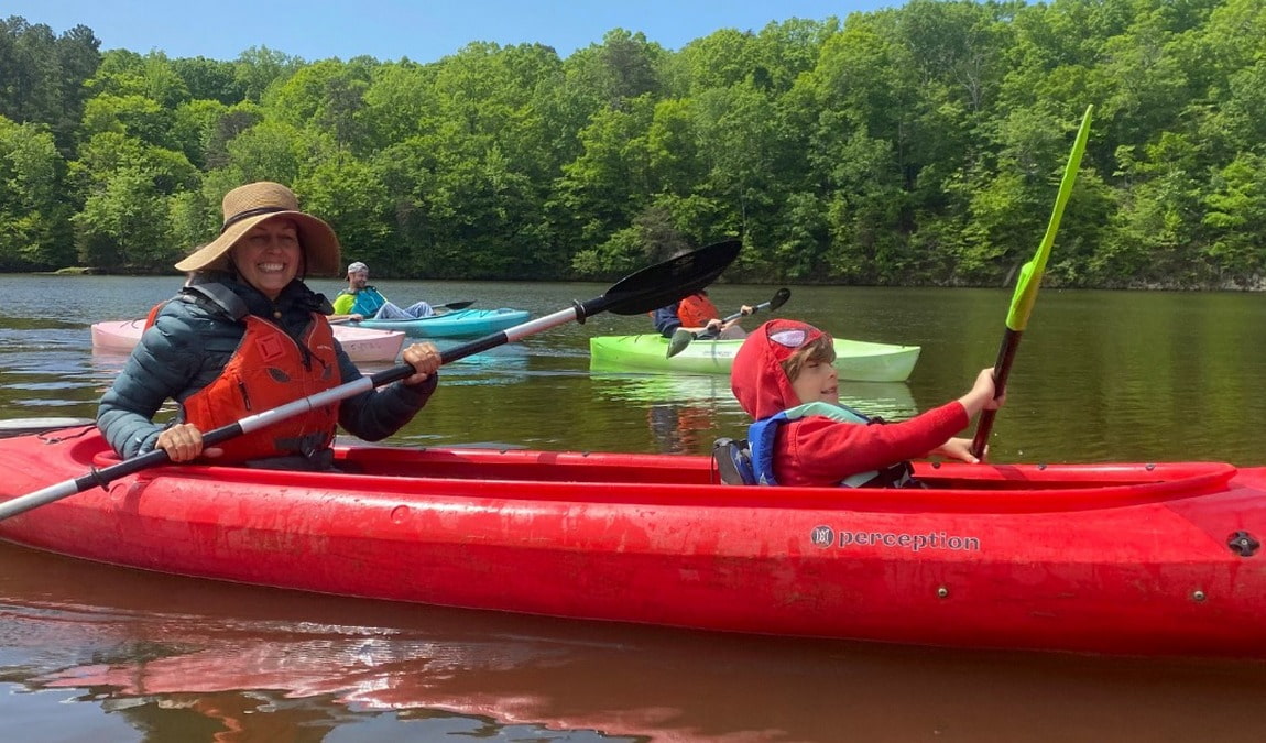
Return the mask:
<path id="1" fill-rule="evenodd" d="M 584 303 L 582 311 L 586 318 L 601 311 L 639 315 L 670 305 L 717 281 L 742 247 L 739 240 L 725 240 L 647 266 Z"/>

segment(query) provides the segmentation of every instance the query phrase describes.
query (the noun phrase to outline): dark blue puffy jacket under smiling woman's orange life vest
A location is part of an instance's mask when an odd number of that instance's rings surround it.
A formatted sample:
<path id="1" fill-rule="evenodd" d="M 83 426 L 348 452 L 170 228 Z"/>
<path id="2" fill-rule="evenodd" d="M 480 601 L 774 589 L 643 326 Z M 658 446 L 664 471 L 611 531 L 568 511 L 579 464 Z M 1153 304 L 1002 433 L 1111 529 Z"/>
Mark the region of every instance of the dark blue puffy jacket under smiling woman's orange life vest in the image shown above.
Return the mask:
<path id="1" fill-rule="evenodd" d="M 280 324 L 299 338 L 311 313 L 328 314 L 329 303 L 301 281 L 292 281 L 276 301 L 228 276 L 206 277 L 227 286 L 253 315 Z M 101 397 L 96 425 L 122 457 L 153 449 L 158 433 L 170 423 L 152 423 L 167 400 L 182 403 L 215 380 L 237 349 L 246 325 L 220 305 L 190 289 L 158 313 L 141 337 L 114 385 Z M 342 384 L 361 376 L 342 347 L 337 347 Z M 365 440 L 380 440 L 396 430 L 427 404 L 438 375 L 425 385 L 394 382 L 348 397 L 339 404 L 338 423 Z M 177 415 L 177 420 L 180 416 Z"/>

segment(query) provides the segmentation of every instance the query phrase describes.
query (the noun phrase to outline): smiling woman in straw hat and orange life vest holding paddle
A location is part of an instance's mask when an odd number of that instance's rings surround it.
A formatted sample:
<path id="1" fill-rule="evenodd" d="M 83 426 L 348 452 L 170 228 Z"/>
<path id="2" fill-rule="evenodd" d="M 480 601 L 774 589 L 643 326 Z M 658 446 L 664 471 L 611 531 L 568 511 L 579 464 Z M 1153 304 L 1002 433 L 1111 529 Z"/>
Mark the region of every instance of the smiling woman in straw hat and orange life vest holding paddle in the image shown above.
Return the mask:
<path id="1" fill-rule="evenodd" d="M 99 425 L 123 457 L 163 449 L 173 462 L 199 457 L 268 468 L 324 470 L 335 425 L 368 440 L 391 435 L 425 405 L 441 356 L 430 343 L 404 351 L 410 376 L 381 390 L 314 406 L 220 447 L 203 432 L 361 377 L 334 340 L 330 306 L 301 280 L 339 266 L 334 230 L 299 210 L 281 184 L 256 182 L 224 196 L 213 242 L 176 265 L 190 278 L 167 301 L 101 399 Z M 153 421 L 166 400 L 180 413 Z"/>

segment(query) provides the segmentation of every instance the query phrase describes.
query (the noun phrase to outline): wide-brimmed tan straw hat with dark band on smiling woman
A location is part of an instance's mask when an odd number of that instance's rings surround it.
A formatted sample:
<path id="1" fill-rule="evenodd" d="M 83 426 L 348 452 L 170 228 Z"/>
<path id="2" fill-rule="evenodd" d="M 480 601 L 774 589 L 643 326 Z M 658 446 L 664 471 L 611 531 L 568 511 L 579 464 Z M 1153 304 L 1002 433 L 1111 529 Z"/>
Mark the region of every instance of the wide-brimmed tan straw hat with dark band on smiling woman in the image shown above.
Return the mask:
<path id="1" fill-rule="evenodd" d="M 179 271 L 225 270 L 229 251 L 251 228 L 267 219 L 284 216 L 299 229 L 299 243 L 304 248 L 304 273 L 337 276 L 341 249 L 334 230 L 320 219 L 299 210 L 294 191 L 270 181 L 238 186 L 224 195 L 224 227 L 220 237 L 190 253 L 176 263 Z"/>

